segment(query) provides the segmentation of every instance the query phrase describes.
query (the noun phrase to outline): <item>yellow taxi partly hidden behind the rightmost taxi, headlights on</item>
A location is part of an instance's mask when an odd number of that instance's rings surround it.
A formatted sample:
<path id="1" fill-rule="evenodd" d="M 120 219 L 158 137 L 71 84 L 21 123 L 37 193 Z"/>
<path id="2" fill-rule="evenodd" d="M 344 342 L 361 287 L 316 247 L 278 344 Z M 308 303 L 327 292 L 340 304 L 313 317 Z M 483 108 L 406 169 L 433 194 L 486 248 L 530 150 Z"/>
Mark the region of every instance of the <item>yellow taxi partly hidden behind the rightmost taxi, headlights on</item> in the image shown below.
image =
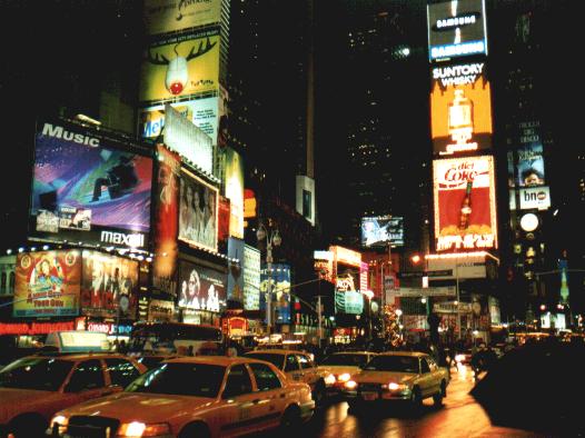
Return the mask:
<path id="1" fill-rule="evenodd" d="M 345 382 L 359 372 L 374 356 L 371 351 L 338 351 L 327 356 L 317 367 L 325 372 L 325 385 L 328 395 L 339 395 Z"/>

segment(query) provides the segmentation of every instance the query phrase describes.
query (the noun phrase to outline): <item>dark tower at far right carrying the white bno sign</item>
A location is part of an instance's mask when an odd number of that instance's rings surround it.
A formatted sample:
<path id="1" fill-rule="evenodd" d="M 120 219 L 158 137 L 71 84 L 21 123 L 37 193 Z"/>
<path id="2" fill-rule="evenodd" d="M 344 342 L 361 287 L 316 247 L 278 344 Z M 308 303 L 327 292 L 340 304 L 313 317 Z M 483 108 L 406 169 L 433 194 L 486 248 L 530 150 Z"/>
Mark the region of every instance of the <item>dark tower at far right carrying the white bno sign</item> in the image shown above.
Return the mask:
<path id="1" fill-rule="evenodd" d="M 577 19 L 565 1 L 499 3 L 493 14 L 508 301 L 517 319 L 563 328 L 585 302 L 583 275 L 567 271 L 584 261 L 576 212 L 584 208 L 585 148 L 579 117 L 566 107 L 567 96 L 581 101 L 583 91 L 559 67 L 572 57 Z"/>

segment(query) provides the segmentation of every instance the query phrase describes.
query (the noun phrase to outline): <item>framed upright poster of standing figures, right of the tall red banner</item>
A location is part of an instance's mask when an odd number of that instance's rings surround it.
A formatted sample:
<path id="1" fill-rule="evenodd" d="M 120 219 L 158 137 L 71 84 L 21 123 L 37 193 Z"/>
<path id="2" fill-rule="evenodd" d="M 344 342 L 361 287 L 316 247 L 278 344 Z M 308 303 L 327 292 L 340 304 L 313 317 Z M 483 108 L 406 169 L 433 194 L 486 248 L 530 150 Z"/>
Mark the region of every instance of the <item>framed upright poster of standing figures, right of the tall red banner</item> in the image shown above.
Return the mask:
<path id="1" fill-rule="evenodd" d="M 218 189 L 182 169 L 179 239 L 217 252 Z"/>

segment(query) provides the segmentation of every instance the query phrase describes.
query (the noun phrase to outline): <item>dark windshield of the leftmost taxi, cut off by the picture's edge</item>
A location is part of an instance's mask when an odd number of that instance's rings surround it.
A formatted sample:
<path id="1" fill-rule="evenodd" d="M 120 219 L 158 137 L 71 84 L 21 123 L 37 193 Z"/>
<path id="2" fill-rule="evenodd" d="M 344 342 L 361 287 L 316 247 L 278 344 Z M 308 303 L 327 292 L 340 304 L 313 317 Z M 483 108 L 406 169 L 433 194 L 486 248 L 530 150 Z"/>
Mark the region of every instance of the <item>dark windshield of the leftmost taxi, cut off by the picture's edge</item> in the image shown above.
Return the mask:
<path id="1" fill-rule="evenodd" d="M 0 371 L 0 388 L 56 391 L 71 371 L 73 362 L 54 358 L 22 358 Z"/>

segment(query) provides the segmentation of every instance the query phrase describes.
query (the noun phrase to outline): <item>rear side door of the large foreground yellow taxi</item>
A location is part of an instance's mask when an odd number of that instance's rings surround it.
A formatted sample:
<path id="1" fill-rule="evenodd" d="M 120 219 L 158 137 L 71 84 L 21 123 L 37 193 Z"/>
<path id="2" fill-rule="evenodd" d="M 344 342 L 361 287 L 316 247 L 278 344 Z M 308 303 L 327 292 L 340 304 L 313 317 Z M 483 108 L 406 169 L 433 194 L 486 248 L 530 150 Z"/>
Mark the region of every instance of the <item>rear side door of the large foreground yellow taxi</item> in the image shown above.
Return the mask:
<path id="1" fill-rule="evenodd" d="M 256 381 L 258 410 L 262 427 L 278 424 L 286 407 L 286 389 L 278 375 L 266 364 L 248 364 Z M 254 401 L 254 400 L 252 400 Z"/>

